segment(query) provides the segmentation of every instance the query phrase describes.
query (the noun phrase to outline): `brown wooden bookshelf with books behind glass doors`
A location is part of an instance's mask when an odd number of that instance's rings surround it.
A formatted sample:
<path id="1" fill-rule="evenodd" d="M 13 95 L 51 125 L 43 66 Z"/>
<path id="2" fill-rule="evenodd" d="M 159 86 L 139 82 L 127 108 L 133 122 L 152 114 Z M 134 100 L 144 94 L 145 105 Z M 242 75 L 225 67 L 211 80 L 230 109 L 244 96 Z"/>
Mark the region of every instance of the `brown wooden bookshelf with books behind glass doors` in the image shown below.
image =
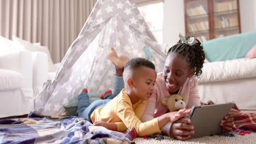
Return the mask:
<path id="1" fill-rule="evenodd" d="M 238 0 L 184 0 L 185 32 L 201 42 L 241 33 Z"/>

